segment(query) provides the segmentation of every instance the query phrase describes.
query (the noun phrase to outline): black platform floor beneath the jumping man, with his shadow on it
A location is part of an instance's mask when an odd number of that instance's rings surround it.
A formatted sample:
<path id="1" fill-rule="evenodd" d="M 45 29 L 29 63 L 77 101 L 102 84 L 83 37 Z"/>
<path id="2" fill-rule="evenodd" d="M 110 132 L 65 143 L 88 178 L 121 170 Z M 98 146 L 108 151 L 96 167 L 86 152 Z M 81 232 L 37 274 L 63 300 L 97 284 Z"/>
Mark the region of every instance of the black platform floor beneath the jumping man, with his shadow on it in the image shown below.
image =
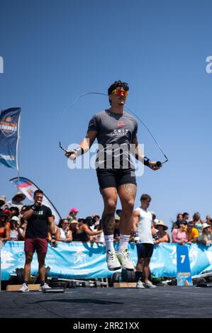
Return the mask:
<path id="1" fill-rule="evenodd" d="M 212 288 L 74 288 L 0 293 L 1 318 L 211 318 Z"/>

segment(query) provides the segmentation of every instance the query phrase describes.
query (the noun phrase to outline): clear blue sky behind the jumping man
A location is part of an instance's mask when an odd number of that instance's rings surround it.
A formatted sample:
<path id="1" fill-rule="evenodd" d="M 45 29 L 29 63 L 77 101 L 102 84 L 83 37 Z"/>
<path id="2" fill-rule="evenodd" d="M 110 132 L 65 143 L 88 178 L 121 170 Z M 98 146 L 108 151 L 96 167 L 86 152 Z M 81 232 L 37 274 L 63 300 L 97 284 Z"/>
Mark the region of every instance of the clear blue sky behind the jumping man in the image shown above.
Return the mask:
<path id="1" fill-rule="evenodd" d="M 128 105 L 155 135 L 169 162 L 138 177 L 151 210 L 169 224 L 177 213 L 211 214 L 211 1 L 1 0 L 0 108 L 20 106 L 21 176 L 45 191 L 65 217 L 101 214 L 96 173 L 70 170 L 58 148 L 65 108 L 84 91 L 106 93 L 115 80 L 130 85 Z M 82 140 L 104 96 L 69 108 L 62 145 Z M 143 125 L 145 154 L 162 159 Z M 11 198 L 14 169 L 0 166 L 0 195 Z M 120 204 L 118 205 L 120 208 Z"/>

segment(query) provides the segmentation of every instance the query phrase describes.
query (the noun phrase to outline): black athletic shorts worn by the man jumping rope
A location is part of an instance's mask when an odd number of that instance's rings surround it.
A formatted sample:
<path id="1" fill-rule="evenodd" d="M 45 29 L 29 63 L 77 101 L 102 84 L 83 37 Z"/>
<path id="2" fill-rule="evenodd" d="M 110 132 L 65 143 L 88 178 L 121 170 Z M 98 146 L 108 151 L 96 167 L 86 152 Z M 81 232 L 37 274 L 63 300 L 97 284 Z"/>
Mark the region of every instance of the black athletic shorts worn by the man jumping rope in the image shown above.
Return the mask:
<path id="1" fill-rule="evenodd" d="M 135 171 L 132 169 L 96 169 L 100 190 L 107 187 L 135 184 Z"/>

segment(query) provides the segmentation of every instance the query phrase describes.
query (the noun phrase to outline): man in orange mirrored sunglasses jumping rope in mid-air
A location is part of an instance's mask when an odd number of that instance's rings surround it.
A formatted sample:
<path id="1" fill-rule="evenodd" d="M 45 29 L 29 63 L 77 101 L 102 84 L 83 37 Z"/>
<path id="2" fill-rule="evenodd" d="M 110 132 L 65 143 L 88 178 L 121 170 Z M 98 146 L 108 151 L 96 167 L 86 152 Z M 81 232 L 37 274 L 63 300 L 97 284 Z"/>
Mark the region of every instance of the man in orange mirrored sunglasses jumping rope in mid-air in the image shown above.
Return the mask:
<path id="1" fill-rule="evenodd" d="M 135 166 L 130 159 L 130 146 L 135 145 L 135 158 L 149 166 L 150 169 L 157 170 L 161 167 L 157 162 L 147 159 L 139 148 L 137 120 L 123 110 L 128 90 L 128 84 L 122 81 L 115 81 L 109 86 L 108 97 L 111 107 L 91 118 L 87 135 L 80 142 L 79 147 L 65 154 L 69 159 L 76 159 L 89 150 L 96 138 L 98 140 L 96 174 L 104 200 L 101 220 L 106 242 L 106 261 L 110 271 L 121 269 L 121 267 L 130 271 L 134 270 L 134 264 L 128 251 L 136 195 Z M 114 146 L 116 149 L 113 149 Z M 126 147 L 128 149 L 125 149 Z M 122 213 L 120 242 L 116 253 L 113 247 L 113 230 L 118 196 L 122 205 Z"/>

